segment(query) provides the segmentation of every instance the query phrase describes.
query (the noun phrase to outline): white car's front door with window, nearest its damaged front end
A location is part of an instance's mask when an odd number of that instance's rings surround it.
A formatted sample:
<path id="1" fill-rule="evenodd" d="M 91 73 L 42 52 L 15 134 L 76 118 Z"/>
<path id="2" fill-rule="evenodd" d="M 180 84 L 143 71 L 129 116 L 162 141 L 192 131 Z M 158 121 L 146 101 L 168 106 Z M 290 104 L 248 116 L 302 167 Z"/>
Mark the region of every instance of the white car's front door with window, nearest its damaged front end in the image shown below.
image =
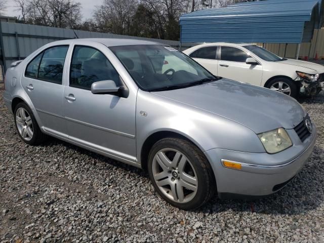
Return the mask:
<path id="1" fill-rule="evenodd" d="M 246 60 L 249 57 L 251 56 L 244 50 L 222 46 L 217 75 L 260 86 L 263 73 L 262 65 L 247 64 Z"/>

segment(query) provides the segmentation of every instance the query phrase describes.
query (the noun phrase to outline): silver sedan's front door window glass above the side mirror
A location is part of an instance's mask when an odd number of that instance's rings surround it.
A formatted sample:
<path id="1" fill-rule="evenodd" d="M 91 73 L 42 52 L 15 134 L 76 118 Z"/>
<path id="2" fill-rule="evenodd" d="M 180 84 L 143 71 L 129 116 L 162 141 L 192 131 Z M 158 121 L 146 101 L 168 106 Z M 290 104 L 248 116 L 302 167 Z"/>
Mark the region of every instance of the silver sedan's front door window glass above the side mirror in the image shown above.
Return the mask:
<path id="1" fill-rule="evenodd" d="M 75 46 L 70 86 L 90 90 L 92 83 L 102 80 L 113 80 L 120 86 L 119 75 L 105 55 L 91 47 Z"/>

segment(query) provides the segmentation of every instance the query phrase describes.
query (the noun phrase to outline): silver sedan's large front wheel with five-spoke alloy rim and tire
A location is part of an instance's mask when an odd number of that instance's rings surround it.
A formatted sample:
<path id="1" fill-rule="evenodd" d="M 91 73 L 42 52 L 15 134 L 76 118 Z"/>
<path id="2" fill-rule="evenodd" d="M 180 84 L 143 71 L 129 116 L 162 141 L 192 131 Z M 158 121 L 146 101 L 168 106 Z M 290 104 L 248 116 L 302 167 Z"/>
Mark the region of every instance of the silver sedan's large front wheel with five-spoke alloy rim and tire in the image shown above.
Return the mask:
<path id="1" fill-rule="evenodd" d="M 205 155 L 184 139 L 165 138 L 156 142 L 148 156 L 148 174 L 158 194 L 183 210 L 203 206 L 216 189 Z"/>

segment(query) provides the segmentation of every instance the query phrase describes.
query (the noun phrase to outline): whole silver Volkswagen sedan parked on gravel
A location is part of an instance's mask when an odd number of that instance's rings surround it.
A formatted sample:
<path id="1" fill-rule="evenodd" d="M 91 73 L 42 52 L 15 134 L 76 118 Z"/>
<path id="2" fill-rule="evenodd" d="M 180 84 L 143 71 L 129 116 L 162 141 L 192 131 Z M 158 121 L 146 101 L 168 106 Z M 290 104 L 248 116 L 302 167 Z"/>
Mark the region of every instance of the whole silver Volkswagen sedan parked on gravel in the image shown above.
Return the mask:
<path id="1" fill-rule="evenodd" d="M 176 49 L 71 39 L 7 70 L 4 100 L 21 139 L 47 135 L 143 168 L 168 203 L 263 196 L 291 181 L 316 128 L 293 98 L 212 75 Z"/>

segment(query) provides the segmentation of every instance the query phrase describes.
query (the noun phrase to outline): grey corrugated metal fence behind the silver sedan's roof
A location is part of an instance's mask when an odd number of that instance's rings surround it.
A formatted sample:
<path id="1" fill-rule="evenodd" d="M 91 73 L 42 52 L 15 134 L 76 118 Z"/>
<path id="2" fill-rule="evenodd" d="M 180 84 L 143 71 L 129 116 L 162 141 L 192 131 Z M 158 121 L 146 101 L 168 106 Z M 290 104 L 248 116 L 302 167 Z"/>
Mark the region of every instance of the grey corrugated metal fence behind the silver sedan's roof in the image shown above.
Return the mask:
<path id="1" fill-rule="evenodd" d="M 1 31 L 2 30 L 2 31 Z M 3 54 L 8 68 L 13 61 L 23 59 L 36 49 L 48 44 L 50 42 L 58 41 L 60 39 L 75 38 L 72 29 L 53 28 L 46 26 L 18 24 L 18 23 L 1 23 L 0 41 L 3 40 Z M 132 38 L 144 39 L 147 41 L 154 41 L 173 46 L 180 49 L 180 42 L 168 41 L 165 39 L 152 39 L 135 37 L 128 35 L 118 35 L 110 33 L 98 33 L 82 30 L 75 30 L 79 38 Z M 2 38 L 1 38 L 2 37 Z M 1 44 L 1 42 L 0 42 Z M 197 44 L 181 43 L 181 50 L 185 50 Z M 1 63 L 0 63 L 1 64 Z"/>

